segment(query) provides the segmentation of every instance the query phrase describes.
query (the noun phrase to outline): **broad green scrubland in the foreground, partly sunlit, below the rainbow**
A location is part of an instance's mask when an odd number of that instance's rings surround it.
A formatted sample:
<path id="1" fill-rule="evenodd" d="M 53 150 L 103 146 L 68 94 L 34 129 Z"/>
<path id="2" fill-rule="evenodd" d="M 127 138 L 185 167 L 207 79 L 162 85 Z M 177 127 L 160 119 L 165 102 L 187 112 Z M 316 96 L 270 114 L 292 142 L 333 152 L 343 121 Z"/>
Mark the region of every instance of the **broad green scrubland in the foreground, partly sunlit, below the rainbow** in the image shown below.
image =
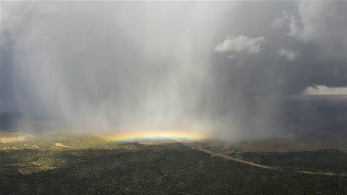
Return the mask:
<path id="1" fill-rule="evenodd" d="M 106 142 L 53 133 L 25 139 L 0 143 L 0 194 L 347 193 L 347 177 L 253 167 L 171 140 Z M 19 172 L 28 167 L 31 174 Z"/>

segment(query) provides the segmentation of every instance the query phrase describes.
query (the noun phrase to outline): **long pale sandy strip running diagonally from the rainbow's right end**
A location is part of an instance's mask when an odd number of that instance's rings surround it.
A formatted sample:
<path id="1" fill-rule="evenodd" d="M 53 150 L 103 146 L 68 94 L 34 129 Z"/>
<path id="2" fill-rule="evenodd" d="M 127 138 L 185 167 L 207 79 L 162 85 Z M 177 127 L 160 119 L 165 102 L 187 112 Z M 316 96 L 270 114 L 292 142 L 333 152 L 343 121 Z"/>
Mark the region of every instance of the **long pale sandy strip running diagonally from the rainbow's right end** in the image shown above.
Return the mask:
<path id="1" fill-rule="evenodd" d="M 185 146 L 190 147 L 191 149 L 200 150 L 200 151 L 209 153 L 209 154 L 211 154 L 211 156 L 219 156 L 219 157 L 226 158 L 226 159 L 229 159 L 229 160 L 233 160 L 233 161 L 249 164 L 249 165 L 255 166 L 255 167 L 284 171 L 283 169 L 279 169 L 277 167 L 269 167 L 269 166 L 266 166 L 266 165 L 257 164 L 257 163 L 253 163 L 253 162 L 249 162 L 249 161 L 244 161 L 244 160 L 232 158 L 231 156 L 227 156 L 227 155 L 223 155 L 223 154 L 220 154 L 220 153 L 212 152 L 210 150 L 203 149 L 201 147 L 196 147 L 194 144 L 189 143 L 189 142 L 185 142 L 185 141 L 180 140 L 180 139 L 174 139 L 174 140 L 179 142 L 179 143 L 181 143 L 181 144 L 183 144 L 183 145 L 185 145 Z M 324 171 L 294 171 L 294 172 L 301 172 L 301 173 L 314 174 L 314 175 L 347 176 L 347 173 L 333 173 L 333 172 L 324 172 Z"/>

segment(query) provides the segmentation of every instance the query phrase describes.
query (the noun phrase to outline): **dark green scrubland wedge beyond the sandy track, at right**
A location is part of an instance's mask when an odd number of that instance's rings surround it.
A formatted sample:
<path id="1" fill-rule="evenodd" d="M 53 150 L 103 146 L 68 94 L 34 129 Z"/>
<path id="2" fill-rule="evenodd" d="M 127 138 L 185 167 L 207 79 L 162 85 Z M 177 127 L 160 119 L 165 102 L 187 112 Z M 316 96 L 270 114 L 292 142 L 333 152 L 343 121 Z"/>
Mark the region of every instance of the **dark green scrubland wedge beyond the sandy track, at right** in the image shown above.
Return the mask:
<path id="1" fill-rule="evenodd" d="M 242 152 L 231 157 L 293 171 L 347 172 L 347 153 L 324 149 L 310 152 Z"/>

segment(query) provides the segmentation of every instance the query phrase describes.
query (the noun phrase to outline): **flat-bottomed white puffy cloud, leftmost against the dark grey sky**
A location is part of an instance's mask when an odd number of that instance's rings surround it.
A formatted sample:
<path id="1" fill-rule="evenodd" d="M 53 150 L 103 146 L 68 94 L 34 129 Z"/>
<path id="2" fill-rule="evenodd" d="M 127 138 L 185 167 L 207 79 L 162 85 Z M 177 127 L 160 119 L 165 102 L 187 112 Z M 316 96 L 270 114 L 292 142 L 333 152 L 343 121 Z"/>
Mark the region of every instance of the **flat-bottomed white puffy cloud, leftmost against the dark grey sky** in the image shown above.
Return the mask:
<path id="1" fill-rule="evenodd" d="M 218 44 L 214 51 L 217 52 L 242 52 L 248 51 L 249 53 L 260 53 L 260 44 L 265 43 L 263 36 L 256 38 L 249 38 L 245 35 L 228 36 L 223 43 Z"/>

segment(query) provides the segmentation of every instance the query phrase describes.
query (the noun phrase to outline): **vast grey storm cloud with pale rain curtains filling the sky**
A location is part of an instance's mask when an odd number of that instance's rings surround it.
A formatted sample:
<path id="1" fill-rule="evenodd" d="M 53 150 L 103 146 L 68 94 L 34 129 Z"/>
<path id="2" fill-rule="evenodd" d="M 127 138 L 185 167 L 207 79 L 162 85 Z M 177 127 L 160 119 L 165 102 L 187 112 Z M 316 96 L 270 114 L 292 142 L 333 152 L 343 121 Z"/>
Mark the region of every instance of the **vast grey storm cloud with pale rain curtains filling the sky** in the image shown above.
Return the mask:
<path id="1" fill-rule="evenodd" d="M 1 5 L 1 93 L 73 126 L 280 135 L 286 95 L 347 85 L 345 1 Z"/>

